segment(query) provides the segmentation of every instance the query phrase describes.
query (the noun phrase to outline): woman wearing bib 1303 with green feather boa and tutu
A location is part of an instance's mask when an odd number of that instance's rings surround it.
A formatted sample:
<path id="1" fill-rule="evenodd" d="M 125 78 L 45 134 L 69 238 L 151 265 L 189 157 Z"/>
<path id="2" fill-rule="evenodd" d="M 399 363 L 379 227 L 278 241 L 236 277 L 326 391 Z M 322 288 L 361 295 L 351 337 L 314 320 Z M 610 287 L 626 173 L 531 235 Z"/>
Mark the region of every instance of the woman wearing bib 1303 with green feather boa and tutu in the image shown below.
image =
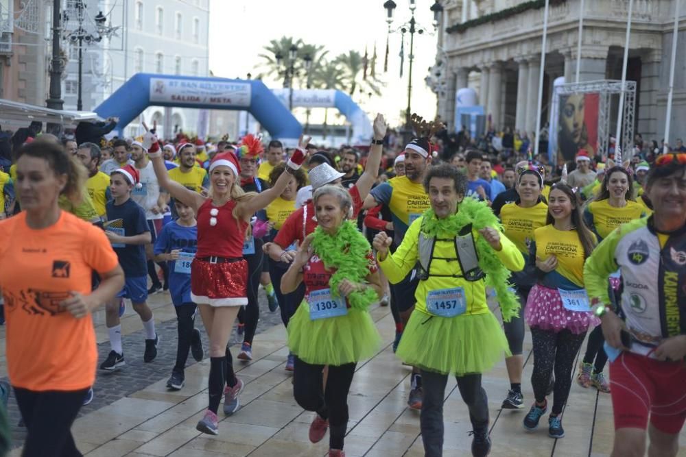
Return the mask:
<path id="1" fill-rule="evenodd" d="M 348 221 L 351 195 L 340 186 L 322 186 L 313 195 L 318 227 L 305 238 L 281 291 L 305 283 L 305 301 L 288 323 L 288 346 L 296 356 L 293 393 L 305 410 L 317 413 L 309 439 L 318 443 L 331 428 L 329 456 L 344 456 L 348 391 L 355 365 L 373 356 L 381 338 L 368 312 L 381 295 L 371 247 Z M 322 371 L 329 367 L 326 386 Z"/>

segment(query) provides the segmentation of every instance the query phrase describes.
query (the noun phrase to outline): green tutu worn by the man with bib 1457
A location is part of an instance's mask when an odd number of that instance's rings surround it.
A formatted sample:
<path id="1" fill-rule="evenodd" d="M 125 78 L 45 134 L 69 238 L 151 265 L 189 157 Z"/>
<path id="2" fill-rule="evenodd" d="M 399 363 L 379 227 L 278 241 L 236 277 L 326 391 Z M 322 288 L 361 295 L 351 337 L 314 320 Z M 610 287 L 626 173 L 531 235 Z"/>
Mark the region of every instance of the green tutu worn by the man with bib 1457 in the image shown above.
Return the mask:
<path id="1" fill-rule="evenodd" d="M 414 311 L 396 354 L 413 367 L 456 376 L 486 373 L 504 356 L 512 355 L 490 311 L 458 317 Z"/>

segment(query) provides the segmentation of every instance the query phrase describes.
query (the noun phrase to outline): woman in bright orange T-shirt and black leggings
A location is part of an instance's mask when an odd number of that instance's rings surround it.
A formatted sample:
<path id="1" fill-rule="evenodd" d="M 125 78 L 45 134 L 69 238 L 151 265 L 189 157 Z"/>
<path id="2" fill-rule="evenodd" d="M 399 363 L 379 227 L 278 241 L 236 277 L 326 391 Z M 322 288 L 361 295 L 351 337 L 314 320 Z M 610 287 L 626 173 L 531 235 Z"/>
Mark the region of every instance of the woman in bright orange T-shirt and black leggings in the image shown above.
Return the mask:
<path id="1" fill-rule="evenodd" d="M 104 232 L 58 206 L 60 195 L 80 199 L 85 172 L 58 143 L 25 145 L 16 162 L 22 212 L 0 221 L 7 367 L 25 457 L 81 455 L 70 429 L 95 382 L 91 312 L 123 287 Z M 102 281 L 91 292 L 93 271 Z"/>

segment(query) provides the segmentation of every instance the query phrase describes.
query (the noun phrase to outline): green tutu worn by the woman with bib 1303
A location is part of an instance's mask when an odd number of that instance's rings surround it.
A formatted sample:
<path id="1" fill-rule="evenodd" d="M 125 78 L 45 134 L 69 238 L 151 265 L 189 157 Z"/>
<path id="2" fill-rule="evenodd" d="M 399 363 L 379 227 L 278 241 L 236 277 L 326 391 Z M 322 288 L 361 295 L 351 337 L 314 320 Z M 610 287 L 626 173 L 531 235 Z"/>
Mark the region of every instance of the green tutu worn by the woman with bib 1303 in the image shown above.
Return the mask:
<path id="1" fill-rule="evenodd" d="M 303 301 L 288 322 L 288 347 L 312 365 L 345 365 L 374 356 L 381 336 L 366 311 L 348 308 L 345 316 L 309 319 Z"/>

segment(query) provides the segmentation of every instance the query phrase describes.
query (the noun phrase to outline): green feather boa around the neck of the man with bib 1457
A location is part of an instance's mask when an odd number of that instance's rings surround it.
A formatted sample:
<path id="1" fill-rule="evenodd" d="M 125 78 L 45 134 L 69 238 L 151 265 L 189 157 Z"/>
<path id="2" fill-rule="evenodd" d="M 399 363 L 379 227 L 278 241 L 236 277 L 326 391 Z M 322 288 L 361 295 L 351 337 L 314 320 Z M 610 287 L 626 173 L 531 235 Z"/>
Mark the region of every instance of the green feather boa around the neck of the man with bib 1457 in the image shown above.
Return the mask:
<path id="1" fill-rule="evenodd" d="M 483 201 L 466 197 L 458 206 L 458 212 L 445 219 L 436 218 L 434 210 L 424 212 L 421 231 L 436 238 L 439 233 L 458 234 L 468 224 L 476 230 L 493 227 L 502 233 L 502 226 L 493 211 Z M 502 236 L 502 235 L 501 235 Z M 519 299 L 512 292 L 509 278 L 512 274 L 495 255 L 495 250 L 482 236 L 476 238 L 476 250 L 479 255 L 479 267 L 486 273 L 486 286 L 493 287 L 500 302 L 503 320 L 509 322 L 519 313 Z"/>

